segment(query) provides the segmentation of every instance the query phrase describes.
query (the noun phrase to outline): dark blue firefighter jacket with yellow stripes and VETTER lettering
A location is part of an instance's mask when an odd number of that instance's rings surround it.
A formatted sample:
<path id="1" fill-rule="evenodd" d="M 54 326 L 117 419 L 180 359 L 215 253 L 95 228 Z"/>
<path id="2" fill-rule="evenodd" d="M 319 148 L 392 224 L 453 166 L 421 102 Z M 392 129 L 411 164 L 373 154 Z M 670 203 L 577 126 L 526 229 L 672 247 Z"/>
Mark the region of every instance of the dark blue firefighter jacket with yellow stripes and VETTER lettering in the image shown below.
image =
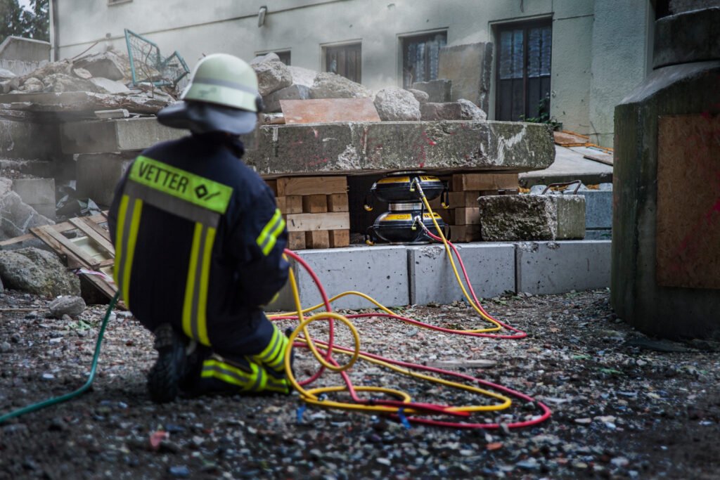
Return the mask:
<path id="1" fill-rule="evenodd" d="M 198 290 L 196 298 L 204 305 L 202 321 L 207 322 L 208 340 L 212 345 L 222 343 L 222 325 L 251 331 L 262 318 L 261 306 L 269 303 L 287 281 L 289 264 L 282 258 L 287 245 L 287 229 L 276 209 L 271 189 L 240 161 L 242 153 L 242 144 L 238 140 L 217 133 L 163 142 L 141 153 L 117 185 L 109 211 L 109 230 L 116 250 L 124 249 L 123 261 L 130 258 L 127 263 L 129 273 L 125 273 L 129 275 L 128 291 L 122 294 L 132 313 L 144 325 L 153 327 L 161 322 L 181 325 L 184 314 L 188 314 L 188 297 L 192 297 L 186 290 L 189 282 L 207 282 Z M 155 166 L 150 170 L 142 163 L 150 162 L 148 159 L 152 159 Z M 232 189 L 227 208 L 219 215 L 212 232 L 212 250 L 209 247 L 207 250 L 210 254 L 207 276 L 203 277 L 199 271 L 192 275 L 193 265 L 197 265 L 193 245 L 198 235 L 197 223 L 192 219 L 157 207 L 149 200 L 142 202 L 141 214 L 140 209 L 137 210 L 136 230 L 129 213 L 125 218 L 122 198 L 129 191 L 127 184 L 137 186 L 130 173 L 135 163 L 138 163 L 135 178 L 142 174 L 141 180 L 149 179 L 150 194 L 155 190 L 153 186 L 172 187 L 189 194 L 184 176 L 204 178 L 209 185 L 222 184 Z M 156 168 L 157 165 L 161 168 Z M 153 181 L 156 184 L 152 184 Z M 203 185 L 195 191 L 198 196 L 212 196 L 204 191 Z M 160 193 L 162 197 L 163 193 Z M 183 203 L 182 199 L 171 200 L 175 204 Z M 118 230 L 123 231 L 122 225 L 118 225 L 119 215 L 127 221 L 123 224 L 127 225 L 125 247 L 117 238 Z M 129 257 L 127 254 L 133 243 L 134 252 Z M 199 253 L 195 252 L 196 256 L 202 257 L 204 245 L 201 244 Z M 116 257 L 116 274 L 118 268 Z M 122 291 L 124 281 L 120 279 L 116 283 Z M 185 331 L 189 333 L 187 325 Z"/>

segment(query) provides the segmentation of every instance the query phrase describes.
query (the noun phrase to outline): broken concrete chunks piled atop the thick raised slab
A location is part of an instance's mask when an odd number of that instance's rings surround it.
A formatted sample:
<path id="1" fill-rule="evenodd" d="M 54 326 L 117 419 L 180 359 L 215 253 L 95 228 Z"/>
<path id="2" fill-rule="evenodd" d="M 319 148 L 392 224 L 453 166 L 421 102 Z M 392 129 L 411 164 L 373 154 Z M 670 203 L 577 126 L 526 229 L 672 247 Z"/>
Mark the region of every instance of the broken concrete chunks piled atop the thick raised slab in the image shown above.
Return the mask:
<path id="1" fill-rule="evenodd" d="M 487 119 L 469 100 L 431 102 L 424 91 L 396 86 L 374 92 L 335 73 L 285 65 L 275 53 L 254 58 L 250 64 L 258 75 L 266 112 L 281 112 L 281 100 L 370 98 L 382 121 Z M 276 123 L 277 117 L 269 114 L 266 122 Z"/>

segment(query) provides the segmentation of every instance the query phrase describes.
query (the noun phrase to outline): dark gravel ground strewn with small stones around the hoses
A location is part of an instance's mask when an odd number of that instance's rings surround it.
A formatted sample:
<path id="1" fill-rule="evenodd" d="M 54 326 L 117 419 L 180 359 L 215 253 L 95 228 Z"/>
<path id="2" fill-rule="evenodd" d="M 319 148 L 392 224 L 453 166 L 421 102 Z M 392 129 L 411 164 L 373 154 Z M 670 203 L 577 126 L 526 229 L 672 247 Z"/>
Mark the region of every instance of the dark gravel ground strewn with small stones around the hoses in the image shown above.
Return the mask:
<path id="1" fill-rule="evenodd" d="M 523 340 L 469 338 L 377 317 L 355 321 L 363 350 L 497 382 L 553 411 L 539 425 L 511 430 L 407 428 L 365 413 L 303 410 L 297 394 L 155 405 L 145 394 L 151 335 L 115 312 L 89 392 L 0 425 L 0 479 L 717 478 L 716 344 L 648 339 L 613 314 L 608 296 L 483 302 L 498 320 L 528 332 Z M 105 307 L 58 320 L 46 313 L 50 300 L 0 294 L 0 414 L 86 381 Z M 462 302 L 397 311 L 441 327 L 485 327 Z M 311 327 L 321 339 L 324 330 Z M 345 329 L 337 336 L 349 345 Z M 295 370 L 307 378 L 316 363 L 307 350 L 296 351 Z M 351 378 L 402 388 L 420 401 L 492 403 L 366 362 Z M 321 384 L 338 384 L 338 377 L 325 373 L 313 386 Z M 470 420 L 508 424 L 539 413 L 513 402 Z"/>

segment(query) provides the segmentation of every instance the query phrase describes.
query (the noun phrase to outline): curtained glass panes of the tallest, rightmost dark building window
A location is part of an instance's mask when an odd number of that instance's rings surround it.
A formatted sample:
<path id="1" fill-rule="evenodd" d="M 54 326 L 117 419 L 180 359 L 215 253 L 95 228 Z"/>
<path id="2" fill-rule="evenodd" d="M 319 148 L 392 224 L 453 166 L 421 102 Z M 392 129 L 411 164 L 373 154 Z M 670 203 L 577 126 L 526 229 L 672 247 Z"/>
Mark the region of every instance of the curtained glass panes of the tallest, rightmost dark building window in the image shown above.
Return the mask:
<path id="1" fill-rule="evenodd" d="M 498 29 L 498 96 L 495 119 L 523 122 L 550 114 L 552 23 Z"/>

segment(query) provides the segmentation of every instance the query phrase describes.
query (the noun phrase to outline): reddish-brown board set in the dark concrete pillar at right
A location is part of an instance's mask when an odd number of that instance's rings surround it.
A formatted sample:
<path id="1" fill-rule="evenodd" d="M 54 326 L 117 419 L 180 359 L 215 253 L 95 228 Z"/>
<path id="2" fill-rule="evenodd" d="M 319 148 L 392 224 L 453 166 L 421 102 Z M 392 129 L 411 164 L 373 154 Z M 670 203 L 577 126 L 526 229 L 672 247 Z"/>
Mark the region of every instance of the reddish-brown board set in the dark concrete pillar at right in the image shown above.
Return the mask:
<path id="1" fill-rule="evenodd" d="M 657 284 L 720 289 L 720 115 L 660 117 L 657 134 Z"/>

